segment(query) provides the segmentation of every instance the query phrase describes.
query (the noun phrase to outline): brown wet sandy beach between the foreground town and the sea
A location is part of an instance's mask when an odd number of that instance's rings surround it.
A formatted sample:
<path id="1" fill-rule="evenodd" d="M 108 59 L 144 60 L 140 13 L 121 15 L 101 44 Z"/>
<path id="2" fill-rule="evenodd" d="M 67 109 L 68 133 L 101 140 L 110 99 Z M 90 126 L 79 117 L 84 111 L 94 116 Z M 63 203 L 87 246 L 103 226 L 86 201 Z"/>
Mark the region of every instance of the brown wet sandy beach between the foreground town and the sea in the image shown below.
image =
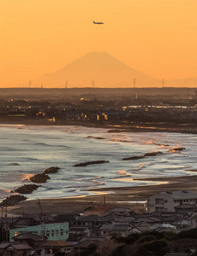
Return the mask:
<path id="1" fill-rule="evenodd" d="M 140 180 L 140 179 L 139 179 Z M 146 180 L 159 182 L 158 185 L 146 185 L 124 188 L 90 189 L 96 195 L 77 196 L 72 198 L 42 199 L 42 211 L 49 214 L 84 212 L 90 206 L 103 206 L 105 198 L 106 207 L 130 207 L 136 212 L 143 212 L 144 202 L 148 195 L 159 191 L 194 190 L 197 191 L 197 175 L 184 177 L 155 177 Z M 27 213 L 41 212 L 37 200 L 27 200 L 19 205 L 8 207 L 9 216 L 26 215 Z"/>

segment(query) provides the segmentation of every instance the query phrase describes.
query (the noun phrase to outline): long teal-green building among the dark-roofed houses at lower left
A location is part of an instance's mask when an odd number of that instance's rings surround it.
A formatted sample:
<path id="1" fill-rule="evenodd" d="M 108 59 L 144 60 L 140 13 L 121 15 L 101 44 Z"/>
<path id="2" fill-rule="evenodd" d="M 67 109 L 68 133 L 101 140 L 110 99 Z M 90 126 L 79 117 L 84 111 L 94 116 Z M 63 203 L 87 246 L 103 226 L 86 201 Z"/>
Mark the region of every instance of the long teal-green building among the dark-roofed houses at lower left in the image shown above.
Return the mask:
<path id="1" fill-rule="evenodd" d="M 41 224 L 29 227 L 9 230 L 9 241 L 13 241 L 14 236 L 18 236 L 24 232 L 31 232 L 38 236 L 46 236 L 49 240 L 67 240 L 69 231 L 69 224 L 56 223 L 56 224 Z"/>

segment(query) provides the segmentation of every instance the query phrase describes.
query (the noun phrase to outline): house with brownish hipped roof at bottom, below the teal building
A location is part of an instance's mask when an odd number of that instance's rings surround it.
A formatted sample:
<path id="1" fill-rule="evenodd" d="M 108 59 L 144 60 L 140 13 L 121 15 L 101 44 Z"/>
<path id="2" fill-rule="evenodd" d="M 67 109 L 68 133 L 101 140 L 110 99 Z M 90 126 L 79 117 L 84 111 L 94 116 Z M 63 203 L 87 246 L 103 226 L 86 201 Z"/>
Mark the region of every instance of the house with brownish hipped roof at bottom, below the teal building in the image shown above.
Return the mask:
<path id="1" fill-rule="evenodd" d="M 55 253 L 72 253 L 72 243 L 67 241 L 49 241 L 43 244 L 43 250 L 41 251 L 41 256 L 53 256 Z"/>

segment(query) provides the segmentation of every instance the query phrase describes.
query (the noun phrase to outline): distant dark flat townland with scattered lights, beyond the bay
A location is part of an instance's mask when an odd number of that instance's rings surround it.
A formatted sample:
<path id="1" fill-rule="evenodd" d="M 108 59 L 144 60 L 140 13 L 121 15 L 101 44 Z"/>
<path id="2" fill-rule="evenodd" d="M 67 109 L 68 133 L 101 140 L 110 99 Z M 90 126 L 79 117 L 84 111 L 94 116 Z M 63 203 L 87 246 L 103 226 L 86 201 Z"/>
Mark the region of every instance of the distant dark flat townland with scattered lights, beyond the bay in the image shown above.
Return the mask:
<path id="1" fill-rule="evenodd" d="M 187 88 L 1 89 L 0 123 L 196 133 L 196 106 Z"/>

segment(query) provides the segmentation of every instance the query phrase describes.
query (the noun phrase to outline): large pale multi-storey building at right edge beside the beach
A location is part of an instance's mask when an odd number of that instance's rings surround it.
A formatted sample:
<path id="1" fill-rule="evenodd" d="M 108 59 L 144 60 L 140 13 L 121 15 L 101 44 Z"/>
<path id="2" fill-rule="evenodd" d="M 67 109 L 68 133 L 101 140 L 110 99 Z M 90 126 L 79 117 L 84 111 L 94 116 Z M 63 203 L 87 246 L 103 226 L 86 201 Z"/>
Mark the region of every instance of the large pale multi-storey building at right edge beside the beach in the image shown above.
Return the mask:
<path id="1" fill-rule="evenodd" d="M 150 212 L 176 212 L 176 207 L 185 203 L 196 204 L 197 192 L 194 191 L 169 191 L 159 192 L 148 197 L 146 211 Z"/>

